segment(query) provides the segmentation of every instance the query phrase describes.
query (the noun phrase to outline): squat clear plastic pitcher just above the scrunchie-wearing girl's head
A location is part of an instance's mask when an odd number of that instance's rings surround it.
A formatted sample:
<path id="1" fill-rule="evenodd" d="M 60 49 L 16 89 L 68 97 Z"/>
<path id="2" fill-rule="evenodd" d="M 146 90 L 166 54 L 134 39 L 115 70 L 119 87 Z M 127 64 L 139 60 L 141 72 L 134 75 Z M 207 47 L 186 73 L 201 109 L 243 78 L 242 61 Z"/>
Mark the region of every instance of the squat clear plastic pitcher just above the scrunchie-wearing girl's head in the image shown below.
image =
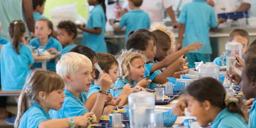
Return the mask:
<path id="1" fill-rule="evenodd" d="M 203 77 L 213 77 L 214 79 L 220 79 L 220 67 L 216 64 L 202 64 L 199 66 L 199 79 Z"/>

